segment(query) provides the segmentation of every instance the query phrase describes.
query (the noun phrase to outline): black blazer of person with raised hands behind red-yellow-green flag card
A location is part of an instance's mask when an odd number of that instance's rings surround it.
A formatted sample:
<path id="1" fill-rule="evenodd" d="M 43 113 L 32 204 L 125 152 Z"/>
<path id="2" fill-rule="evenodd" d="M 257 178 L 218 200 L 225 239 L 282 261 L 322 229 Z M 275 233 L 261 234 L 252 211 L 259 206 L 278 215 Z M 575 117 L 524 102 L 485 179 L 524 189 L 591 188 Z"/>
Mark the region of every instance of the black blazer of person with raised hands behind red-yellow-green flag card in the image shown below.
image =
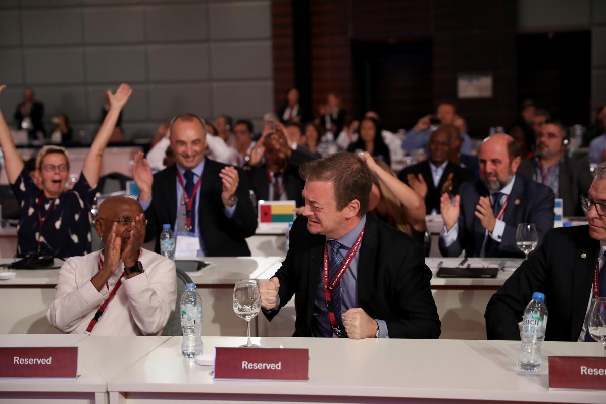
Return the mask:
<path id="1" fill-rule="evenodd" d="M 296 200 L 296 205 L 303 206 L 303 187 L 305 181 L 299 175 L 299 168 L 305 161 L 312 160 L 306 153 L 293 150 L 287 159 L 286 170 L 284 171 L 284 190 L 288 200 Z M 259 200 L 270 200 L 269 179 L 265 164 L 258 164 L 245 170 L 248 176 L 248 188 L 255 193 L 257 202 Z"/>

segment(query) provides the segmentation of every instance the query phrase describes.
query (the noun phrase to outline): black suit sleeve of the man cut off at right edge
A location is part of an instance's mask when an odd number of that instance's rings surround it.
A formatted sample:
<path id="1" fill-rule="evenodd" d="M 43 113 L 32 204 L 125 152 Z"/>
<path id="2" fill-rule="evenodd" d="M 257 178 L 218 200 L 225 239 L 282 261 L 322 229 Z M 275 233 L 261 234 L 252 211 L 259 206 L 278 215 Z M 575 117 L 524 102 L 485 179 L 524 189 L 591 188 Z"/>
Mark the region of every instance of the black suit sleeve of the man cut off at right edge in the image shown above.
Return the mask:
<path id="1" fill-rule="evenodd" d="M 490 298 L 484 313 L 488 339 L 520 340 L 518 323 L 522 321 L 526 305 L 534 292 L 545 293 L 552 239 L 550 231 L 541 247 L 530 254 Z"/>

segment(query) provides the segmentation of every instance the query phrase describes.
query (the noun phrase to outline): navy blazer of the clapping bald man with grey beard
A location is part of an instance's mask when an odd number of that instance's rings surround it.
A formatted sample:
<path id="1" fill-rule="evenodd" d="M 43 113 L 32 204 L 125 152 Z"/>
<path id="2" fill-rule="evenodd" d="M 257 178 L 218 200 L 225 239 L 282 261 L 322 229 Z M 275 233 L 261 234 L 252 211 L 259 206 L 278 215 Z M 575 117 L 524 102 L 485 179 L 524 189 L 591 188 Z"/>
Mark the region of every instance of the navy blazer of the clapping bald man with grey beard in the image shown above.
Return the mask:
<path id="1" fill-rule="evenodd" d="M 480 219 L 474 214 L 481 196 L 488 196 L 488 190 L 480 180 L 465 182 L 459 188 L 461 196 L 459 214 L 459 230 L 456 241 L 445 247 L 440 237 L 438 245 L 445 257 L 458 257 L 465 250 L 466 257 L 479 257 L 484 242 L 485 229 Z M 503 221 L 505 230 L 499 244 L 499 257 L 524 257 L 524 253 L 516 245 L 516 231 L 519 223 L 534 223 L 539 236 L 539 245 L 547 233 L 553 228 L 554 197 L 551 188 L 516 174 L 516 180 L 511 189 L 510 197 L 505 208 Z"/>

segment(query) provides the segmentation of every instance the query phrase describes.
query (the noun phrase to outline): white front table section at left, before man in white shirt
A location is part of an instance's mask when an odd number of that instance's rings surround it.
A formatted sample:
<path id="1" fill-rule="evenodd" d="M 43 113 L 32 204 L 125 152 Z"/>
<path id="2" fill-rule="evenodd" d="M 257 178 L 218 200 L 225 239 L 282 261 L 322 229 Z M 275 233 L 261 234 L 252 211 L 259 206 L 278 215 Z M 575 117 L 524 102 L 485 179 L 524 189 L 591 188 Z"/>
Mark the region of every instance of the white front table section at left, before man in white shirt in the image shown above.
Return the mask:
<path id="1" fill-rule="evenodd" d="M 107 403 L 107 381 L 170 337 L 4 335 L 2 347 L 78 346 L 78 377 L 0 380 L 0 403 Z"/>

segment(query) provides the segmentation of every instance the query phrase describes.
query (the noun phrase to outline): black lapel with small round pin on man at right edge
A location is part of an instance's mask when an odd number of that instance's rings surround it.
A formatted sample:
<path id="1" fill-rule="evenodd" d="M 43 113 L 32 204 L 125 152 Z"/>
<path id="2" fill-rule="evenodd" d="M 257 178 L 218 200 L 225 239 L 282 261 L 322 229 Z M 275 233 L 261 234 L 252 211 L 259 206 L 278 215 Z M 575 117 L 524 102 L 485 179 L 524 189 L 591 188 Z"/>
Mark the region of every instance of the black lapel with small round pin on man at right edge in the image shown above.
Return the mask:
<path id="1" fill-rule="evenodd" d="M 579 338 L 579 329 L 585 322 L 585 312 L 589 302 L 593 275 L 598 262 L 599 242 L 588 236 L 584 242 L 578 243 L 574 257 L 574 269 L 571 279 L 572 318 L 570 319 L 571 341 Z M 585 257 L 583 257 L 585 255 Z"/>

